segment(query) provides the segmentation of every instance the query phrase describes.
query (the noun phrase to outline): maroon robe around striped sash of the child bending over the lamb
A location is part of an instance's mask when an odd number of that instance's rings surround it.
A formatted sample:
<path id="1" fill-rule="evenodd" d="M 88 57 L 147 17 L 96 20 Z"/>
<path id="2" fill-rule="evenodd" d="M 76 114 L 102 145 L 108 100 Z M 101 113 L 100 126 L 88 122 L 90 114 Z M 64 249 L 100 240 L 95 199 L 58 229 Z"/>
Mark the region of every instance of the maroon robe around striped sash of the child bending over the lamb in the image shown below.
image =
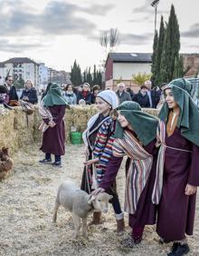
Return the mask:
<path id="1" fill-rule="evenodd" d="M 137 211 L 134 214 L 129 214 L 128 224 L 131 228 L 144 228 L 145 225 L 153 225 L 156 223 L 156 205 L 152 202 L 152 192 L 156 178 L 156 148 L 155 142 L 144 146 L 147 153 L 155 154 L 151 172 L 147 179 L 146 186 L 140 195 L 137 202 Z M 123 157 L 112 156 L 109 160 L 108 168 L 104 174 L 103 180 L 100 183 L 100 188 L 109 189 L 110 184 L 115 180 Z M 128 164 L 126 165 L 126 173 Z"/>

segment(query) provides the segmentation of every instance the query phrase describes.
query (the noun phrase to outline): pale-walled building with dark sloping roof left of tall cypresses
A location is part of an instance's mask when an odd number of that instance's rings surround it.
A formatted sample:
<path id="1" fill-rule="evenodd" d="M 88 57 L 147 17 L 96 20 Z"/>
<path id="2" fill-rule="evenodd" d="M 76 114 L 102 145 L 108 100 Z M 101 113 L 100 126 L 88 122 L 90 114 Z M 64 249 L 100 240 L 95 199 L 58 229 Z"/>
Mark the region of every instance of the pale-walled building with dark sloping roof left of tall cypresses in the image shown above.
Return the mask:
<path id="1" fill-rule="evenodd" d="M 137 92 L 132 76 L 137 73 L 151 73 L 151 54 L 109 53 L 106 61 L 105 87 L 116 91 L 118 82 L 123 82 Z"/>

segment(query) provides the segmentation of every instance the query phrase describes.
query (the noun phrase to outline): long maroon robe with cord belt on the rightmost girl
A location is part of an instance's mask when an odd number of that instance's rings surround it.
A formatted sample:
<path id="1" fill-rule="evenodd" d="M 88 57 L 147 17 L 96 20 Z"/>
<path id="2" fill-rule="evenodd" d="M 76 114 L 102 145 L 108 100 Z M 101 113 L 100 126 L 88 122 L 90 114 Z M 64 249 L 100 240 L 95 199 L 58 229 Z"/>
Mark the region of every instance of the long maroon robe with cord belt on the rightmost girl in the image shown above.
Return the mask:
<path id="1" fill-rule="evenodd" d="M 193 234 L 194 195 L 185 195 L 185 186 L 199 185 L 199 147 L 183 137 L 178 128 L 166 135 L 166 145 L 192 153 L 166 148 L 163 192 L 158 206 L 156 231 L 166 241 L 180 241 Z"/>

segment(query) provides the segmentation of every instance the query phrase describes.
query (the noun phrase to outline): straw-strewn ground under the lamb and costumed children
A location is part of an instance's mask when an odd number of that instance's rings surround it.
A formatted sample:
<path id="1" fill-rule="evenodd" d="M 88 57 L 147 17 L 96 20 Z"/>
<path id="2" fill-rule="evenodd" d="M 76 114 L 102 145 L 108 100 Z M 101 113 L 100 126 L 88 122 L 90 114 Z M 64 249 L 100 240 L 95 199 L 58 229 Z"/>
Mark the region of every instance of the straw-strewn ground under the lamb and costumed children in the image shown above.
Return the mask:
<path id="1" fill-rule="evenodd" d="M 147 227 L 144 240 L 134 249 L 119 246 L 116 222 L 111 207 L 103 215 L 104 223 L 89 227 L 88 239 L 73 239 L 71 213 L 61 207 L 57 224 L 52 212 L 59 184 L 67 179 L 81 182 L 83 146 L 66 146 L 62 168 L 43 165 L 39 145 L 30 145 L 14 155 L 14 172 L 0 183 L 0 255 L 166 255 L 171 244 L 159 245 L 155 227 Z M 118 174 L 120 199 L 124 195 L 124 170 Z M 126 215 L 128 227 L 128 216 Z M 91 216 L 89 217 L 89 221 Z M 126 234 L 128 234 L 128 228 Z M 199 205 L 195 214 L 194 237 L 189 238 L 191 252 L 199 255 Z"/>

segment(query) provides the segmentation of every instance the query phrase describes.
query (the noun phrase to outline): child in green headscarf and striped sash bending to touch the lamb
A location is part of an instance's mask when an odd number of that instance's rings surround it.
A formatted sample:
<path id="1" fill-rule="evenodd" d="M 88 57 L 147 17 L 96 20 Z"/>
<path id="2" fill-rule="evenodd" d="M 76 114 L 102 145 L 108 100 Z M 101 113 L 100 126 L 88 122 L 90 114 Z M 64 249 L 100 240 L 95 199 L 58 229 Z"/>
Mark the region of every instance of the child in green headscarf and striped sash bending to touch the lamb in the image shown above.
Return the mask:
<path id="1" fill-rule="evenodd" d="M 129 227 L 132 229 L 128 239 L 122 241 L 124 247 L 134 247 L 142 240 L 145 225 L 156 223 L 156 205 L 152 202 L 152 192 L 156 176 L 157 120 L 143 113 L 135 102 L 118 105 L 118 119 L 112 157 L 105 172 L 100 188 L 95 193 L 109 190 L 115 180 L 125 155 L 130 162 L 126 166 L 126 187 L 124 211 L 128 212 Z"/>

